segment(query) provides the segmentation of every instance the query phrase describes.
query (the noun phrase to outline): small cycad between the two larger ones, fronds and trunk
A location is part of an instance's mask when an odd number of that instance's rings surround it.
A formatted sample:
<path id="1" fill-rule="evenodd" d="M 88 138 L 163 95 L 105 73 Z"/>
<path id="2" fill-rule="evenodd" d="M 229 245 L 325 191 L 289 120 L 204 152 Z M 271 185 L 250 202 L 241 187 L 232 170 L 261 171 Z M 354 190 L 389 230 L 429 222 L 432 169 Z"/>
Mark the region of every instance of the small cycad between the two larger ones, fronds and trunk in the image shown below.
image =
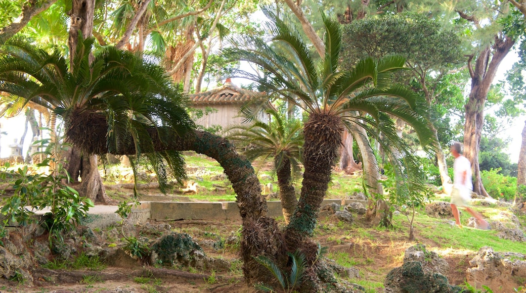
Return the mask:
<path id="1" fill-rule="evenodd" d="M 262 165 L 268 159 L 274 158 L 279 198 L 285 222 L 288 224 L 298 204 L 291 173 L 299 174 L 300 151 L 303 145 L 302 125 L 299 120 L 284 120 L 274 109 L 267 109 L 266 113 L 271 117 L 270 122 L 256 119 L 250 124 L 236 125 L 229 129 L 228 138 L 248 145 L 245 155 L 251 162 L 261 158 Z"/>

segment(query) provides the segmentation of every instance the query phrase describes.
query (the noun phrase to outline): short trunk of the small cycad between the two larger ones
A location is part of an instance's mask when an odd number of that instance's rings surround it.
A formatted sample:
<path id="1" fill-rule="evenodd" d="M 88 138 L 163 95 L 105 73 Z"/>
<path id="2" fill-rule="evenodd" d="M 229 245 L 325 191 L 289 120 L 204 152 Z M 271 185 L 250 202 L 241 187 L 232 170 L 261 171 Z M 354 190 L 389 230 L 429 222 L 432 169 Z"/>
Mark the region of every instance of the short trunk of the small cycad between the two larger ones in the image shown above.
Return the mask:
<path id="1" fill-rule="evenodd" d="M 274 162 L 274 165 L 278 165 L 279 162 Z M 278 176 L 278 186 L 279 186 L 279 199 L 281 201 L 281 208 L 283 211 L 283 217 L 285 218 L 285 223 L 290 223 L 290 217 L 296 210 L 298 205 L 298 200 L 296 198 L 296 191 L 294 186 L 290 184 L 291 182 L 291 173 L 290 173 L 290 161 L 286 159 L 284 162 L 281 162 L 281 168 L 276 171 Z"/>

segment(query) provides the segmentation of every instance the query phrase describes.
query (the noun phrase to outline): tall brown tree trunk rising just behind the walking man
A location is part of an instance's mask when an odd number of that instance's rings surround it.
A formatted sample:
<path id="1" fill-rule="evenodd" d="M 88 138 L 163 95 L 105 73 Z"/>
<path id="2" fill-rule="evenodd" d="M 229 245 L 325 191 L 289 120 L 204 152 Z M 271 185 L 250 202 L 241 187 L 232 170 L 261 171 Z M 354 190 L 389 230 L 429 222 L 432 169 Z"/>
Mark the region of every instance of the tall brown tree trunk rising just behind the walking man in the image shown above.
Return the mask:
<path id="1" fill-rule="evenodd" d="M 484 123 L 484 103 L 500 62 L 508 54 L 515 41 L 506 36 L 495 36 L 492 47 L 485 47 L 477 57 L 476 65 L 468 68 L 471 75 L 471 91 L 466 104 L 466 124 L 464 124 L 464 156 L 471 162 L 473 171 L 473 192 L 488 196 L 482 185 L 479 168 L 479 148 Z M 490 61 L 491 57 L 491 61 Z M 489 61 L 489 63 L 488 63 Z"/>

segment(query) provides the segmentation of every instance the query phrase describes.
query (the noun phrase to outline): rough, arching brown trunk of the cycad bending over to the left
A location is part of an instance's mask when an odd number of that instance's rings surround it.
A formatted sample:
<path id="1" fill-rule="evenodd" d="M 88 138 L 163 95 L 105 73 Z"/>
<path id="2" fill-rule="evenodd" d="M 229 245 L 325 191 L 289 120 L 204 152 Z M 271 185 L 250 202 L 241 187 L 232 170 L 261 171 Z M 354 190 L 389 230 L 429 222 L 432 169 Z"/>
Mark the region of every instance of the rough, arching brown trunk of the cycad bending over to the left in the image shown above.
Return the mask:
<path id="1" fill-rule="evenodd" d="M 79 145 L 84 153 L 108 153 L 106 145 L 106 118 L 92 113 L 83 121 L 70 121 L 66 136 Z M 261 186 L 250 161 L 236 152 L 235 146 L 227 139 L 204 131 L 190 131 L 174 137 L 167 143 L 159 139 L 158 129 L 149 129 L 155 151 L 195 151 L 217 160 L 228 176 L 237 194 L 237 205 L 242 218 L 241 258 L 243 271 L 248 284 L 254 284 L 268 276 L 268 270 L 261 266 L 252 256 L 263 255 L 271 260 L 276 257 L 286 259 L 284 239 L 276 221 L 268 217 L 267 203 L 261 198 Z M 89 136 L 78 136 L 75 133 L 90 133 Z M 75 140 L 76 139 L 76 140 Z M 133 155 L 135 147 L 130 143 L 115 155 Z"/>

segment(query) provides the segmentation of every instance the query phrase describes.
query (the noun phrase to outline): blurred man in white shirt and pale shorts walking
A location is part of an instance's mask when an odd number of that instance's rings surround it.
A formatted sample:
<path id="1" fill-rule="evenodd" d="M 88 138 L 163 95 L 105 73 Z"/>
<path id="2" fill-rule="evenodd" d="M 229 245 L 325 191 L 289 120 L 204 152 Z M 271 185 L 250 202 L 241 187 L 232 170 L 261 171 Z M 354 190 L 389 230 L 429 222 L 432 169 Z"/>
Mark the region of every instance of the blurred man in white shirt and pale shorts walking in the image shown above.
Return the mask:
<path id="1" fill-rule="evenodd" d="M 482 215 L 469 207 L 471 191 L 473 190 L 471 163 L 462 155 L 462 145 L 460 142 L 454 142 L 451 145 L 450 151 L 451 155 L 455 157 L 453 163 L 453 190 L 451 191 L 451 211 L 455 217 L 455 223 L 457 227 L 462 228 L 459 210 L 457 208 L 457 206 L 459 206 L 466 208 L 466 211 L 477 219 L 477 225 L 479 225 L 481 229 L 489 229 L 490 225 L 482 218 Z"/>

